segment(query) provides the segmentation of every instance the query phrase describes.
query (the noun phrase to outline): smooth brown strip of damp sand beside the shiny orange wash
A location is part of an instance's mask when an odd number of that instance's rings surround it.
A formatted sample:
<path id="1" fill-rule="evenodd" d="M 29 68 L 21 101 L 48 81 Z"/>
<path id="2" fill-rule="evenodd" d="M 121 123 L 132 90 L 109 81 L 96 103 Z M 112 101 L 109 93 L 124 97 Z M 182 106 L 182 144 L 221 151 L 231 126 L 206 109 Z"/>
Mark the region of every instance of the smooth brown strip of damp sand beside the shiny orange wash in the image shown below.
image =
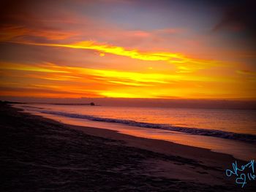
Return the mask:
<path id="1" fill-rule="evenodd" d="M 55 115 L 46 115 L 46 114 L 40 114 L 40 113 L 33 113 L 33 112 L 27 112 L 26 110 L 23 110 L 22 108 L 14 107 L 15 109 L 20 110 L 20 112 L 23 112 L 25 114 L 29 115 L 35 115 L 39 118 L 45 118 L 45 120 L 53 121 L 56 123 L 61 123 L 65 126 L 69 126 L 69 128 L 74 128 L 78 131 L 83 131 L 85 134 L 90 134 L 97 137 L 104 137 L 107 139 L 116 139 L 121 140 L 125 142 L 125 145 L 131 146 L 131 147 L 139 147 L 146 150 L 152 150 L 157 153 L 165 153 L 166 155 L 170 155 L 172 153 L 179 153 L 183 150 L 186 150 L 187 154 L 184 154 L 184 152 L 181 153 L 181 155 L 186 155 L 188 158 L 191 158 L 195 155 L 195 150 L 197 151 L 196 154 L 200 154 L 202 157 L 210 157 L 212 158 L 221 158 L 223 160 L 228 161 L 244 161 L 242 159 L 235 158 L 233 155 L 227 154 L 227 153 L 219 153 L 212 151 L 210 149 L 206 149 L 203 147 L 195 147 L 190 145 L 184 145 L 184 144 L 178 144 L 176 142 L 166 141 L 162 139 L 151 139 L 146 137 L 139 137 L 132 134 L 126 134 L 122 131 L 116 131 L 113 129 L 108 128 L 98 128 L 97 126 L 81 126 L 79 123 L 78 125 L 72 124 L 72 123 L 64 123 L 64 119 L 53 119 L 51 116 Z M 108 126 L 112 126 L 111 123 L 109 123 Z M 207 154 L 205 154 L 207 153 Z M 197 158 L 194 157 L 194 158 Z"/>

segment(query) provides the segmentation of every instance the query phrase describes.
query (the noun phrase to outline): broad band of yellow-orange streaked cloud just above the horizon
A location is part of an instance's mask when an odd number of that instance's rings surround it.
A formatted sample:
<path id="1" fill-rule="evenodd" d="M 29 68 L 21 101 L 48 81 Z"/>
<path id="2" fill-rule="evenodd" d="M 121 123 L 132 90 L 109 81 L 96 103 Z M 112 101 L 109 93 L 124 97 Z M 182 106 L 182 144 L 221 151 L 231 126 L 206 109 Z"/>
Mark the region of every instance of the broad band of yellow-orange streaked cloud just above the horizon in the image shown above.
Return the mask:
<path id="1" fill-rule="evenodd" d="M 110 97 L 178 97 L 180 93 L 189 97 L 191 93 L 203 88 L 205 84 L 236 84 L 230 77 L 214 77 L 187 73 L 125 72 L 110 69 L 89 69 L 74 66 L 58 66 L 56 64 L 12 64 L 1 63 L 3 77 L 12 71 L 12 80 L 2 81 L 2 93 L 17 91 L 45 91 L 48 95 L 58 93 L 62 96 L 110 96 Z M 23 73 L 22 73 L 23 72 Z M 21 74 L 20 74 L 21 73 Z M 16 74 L 16 76 L 15 76 Z M 11 82 L 11 84 L 8 84 Z M 18 84 L 17 84 L 18 83 Z M 8 85 L 8 86 L 7 86 Z M 202 86 L 203 85 L 203 86 Z M 5 89 L 4 89 L 5 87 Z M 10 89 L 6 89 L 9 87 Z M 195 89 L 196 88 L 196 89 Z M 68 90 L 64 91 L 63 90 Z M 42 96 L 45 94 L 42 91 Z M 62 92 L 61 92 L 62 91 Z M 216 89 L 215 93 L 225 90 Z M 212 92 L 212 91 L 211 91 Z M 89 95 L 87 95 L 89 93 Z M 223 94 L 223 93 L 222 93 Z M 211 95 L 211 94 L 210 94 Z"/>

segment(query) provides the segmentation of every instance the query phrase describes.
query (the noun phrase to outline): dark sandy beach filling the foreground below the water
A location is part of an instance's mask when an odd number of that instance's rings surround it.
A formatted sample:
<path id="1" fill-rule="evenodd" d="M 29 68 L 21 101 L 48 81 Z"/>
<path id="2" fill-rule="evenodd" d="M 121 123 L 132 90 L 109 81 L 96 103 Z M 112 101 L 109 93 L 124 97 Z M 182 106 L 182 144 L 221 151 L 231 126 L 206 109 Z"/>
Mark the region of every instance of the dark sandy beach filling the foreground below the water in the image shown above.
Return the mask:
<path id="1" fill-rule="evenodd" d="M 230 155 L 0 107 L 0 191 L 241 191 Z"/>

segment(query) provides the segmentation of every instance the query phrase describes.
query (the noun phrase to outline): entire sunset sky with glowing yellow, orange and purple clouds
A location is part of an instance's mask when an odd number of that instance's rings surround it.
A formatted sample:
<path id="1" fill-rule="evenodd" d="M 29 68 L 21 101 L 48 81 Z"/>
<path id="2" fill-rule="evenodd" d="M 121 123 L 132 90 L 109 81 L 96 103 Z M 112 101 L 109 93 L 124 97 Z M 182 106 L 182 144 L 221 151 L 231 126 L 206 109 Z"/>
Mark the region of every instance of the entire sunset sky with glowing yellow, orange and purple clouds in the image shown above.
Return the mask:
<path id="1" fill-rule="evenodd" d="M 256 100 L 254 1 L 0 1 L 0 96 Z"/>

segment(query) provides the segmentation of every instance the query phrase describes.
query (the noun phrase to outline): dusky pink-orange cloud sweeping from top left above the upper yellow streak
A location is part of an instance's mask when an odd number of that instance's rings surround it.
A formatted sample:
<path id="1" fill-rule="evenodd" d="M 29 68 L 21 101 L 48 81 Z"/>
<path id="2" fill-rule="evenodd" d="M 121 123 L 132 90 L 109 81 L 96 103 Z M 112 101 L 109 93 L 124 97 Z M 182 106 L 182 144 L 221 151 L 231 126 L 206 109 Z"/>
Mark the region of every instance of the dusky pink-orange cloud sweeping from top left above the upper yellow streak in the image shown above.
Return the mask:
<path id="1" fill-rule="evenodd" d="M 81 12 L 86 9 L 86 3 L 92 4 L 92 1 L 2 1 L 0 41 L 55 40 L 63 43 L 87 39 L 126 47 L 151 47 L 152 44 L 156 46 L 157 42 L 162 44 L 162 36 L 166 38 L 181 32 L 176 28 L 151 31 L 122 28 L 111 23 L 111 20 L 91 17 L 88 11 Z"/>

